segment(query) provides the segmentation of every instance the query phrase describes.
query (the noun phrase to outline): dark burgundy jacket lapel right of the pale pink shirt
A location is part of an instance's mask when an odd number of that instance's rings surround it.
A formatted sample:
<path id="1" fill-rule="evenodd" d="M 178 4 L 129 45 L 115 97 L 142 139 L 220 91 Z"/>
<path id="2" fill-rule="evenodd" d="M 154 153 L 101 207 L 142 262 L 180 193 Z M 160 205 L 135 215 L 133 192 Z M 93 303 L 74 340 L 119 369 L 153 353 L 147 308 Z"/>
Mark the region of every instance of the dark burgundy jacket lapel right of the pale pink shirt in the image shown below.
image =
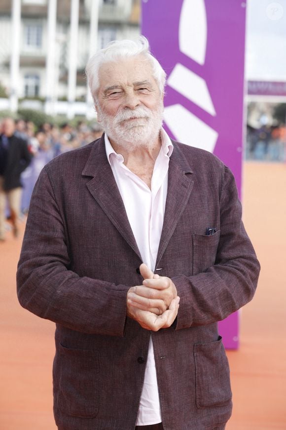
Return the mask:
<path id="1" fill-rule="evenodd" d="M 175 141 L 172 142 L 174 144 L 174 150 L 169 162 L 168 193 L 156 267 L 188 203 L 194 184 L 191 178 L 192 170 L 190 165 L 177 143 Z"/>

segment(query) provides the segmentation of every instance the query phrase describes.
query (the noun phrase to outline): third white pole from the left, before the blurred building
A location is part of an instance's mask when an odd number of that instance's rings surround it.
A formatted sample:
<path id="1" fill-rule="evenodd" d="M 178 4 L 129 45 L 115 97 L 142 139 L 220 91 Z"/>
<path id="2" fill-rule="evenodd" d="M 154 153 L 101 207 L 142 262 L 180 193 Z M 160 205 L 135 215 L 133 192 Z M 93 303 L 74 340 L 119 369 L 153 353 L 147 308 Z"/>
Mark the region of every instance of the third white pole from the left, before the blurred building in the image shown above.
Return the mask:
<path id="1" fill-rule="evenodd" d="M 69 76 L 68 76 L 68 118 L 74 117 L 73 103 L 76 90 L 76 59 L 77 59 L 77 36 L 78 36 L 78 6 L 79 0 L 71 0 L 71 27 L 70 27 L 70 49 L 69 49 Z"/>

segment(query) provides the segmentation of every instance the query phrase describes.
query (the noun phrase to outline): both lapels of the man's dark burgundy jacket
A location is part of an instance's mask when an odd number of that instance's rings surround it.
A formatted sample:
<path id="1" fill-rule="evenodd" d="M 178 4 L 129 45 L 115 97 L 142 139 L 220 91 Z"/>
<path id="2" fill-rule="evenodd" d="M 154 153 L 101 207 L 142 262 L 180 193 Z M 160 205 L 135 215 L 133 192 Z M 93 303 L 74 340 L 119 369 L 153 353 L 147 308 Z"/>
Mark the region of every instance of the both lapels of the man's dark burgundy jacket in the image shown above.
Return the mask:
<path id="1" fill-rule="evenodd" d="M 180 216 L 188 203 L 194 183 L 191 178 L 192 170 L 184 154 L 179 149 L 176 142 L 173 141 L 173 144 L 174 150 L 169 162 L 168 193 L 157 263 L 162 258 L 179 222 Z M 92 177 L 87 183 L 87 188 L 91 195 L 101 206 L 121 236 L 142 260 L 128 221 L 124 203 L 107 161 L 104 135 L 93 145 L 88 161 L 82 171 L 82 175 Z"/>

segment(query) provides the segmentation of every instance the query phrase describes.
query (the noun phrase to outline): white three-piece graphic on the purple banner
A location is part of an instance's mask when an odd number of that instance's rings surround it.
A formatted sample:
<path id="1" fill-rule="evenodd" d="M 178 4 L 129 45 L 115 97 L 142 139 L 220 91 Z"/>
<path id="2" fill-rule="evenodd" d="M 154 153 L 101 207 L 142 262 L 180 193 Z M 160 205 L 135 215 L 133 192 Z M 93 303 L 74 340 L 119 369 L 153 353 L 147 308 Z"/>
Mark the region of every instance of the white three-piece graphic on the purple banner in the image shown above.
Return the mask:
<path id="1" fill-rule="evenodd" d="M 184 0 L 179 22 L 179 49 L 203 65 L 207 45 L 207 17 L 204 0 Z M 205 80 L 176 64 L 167 84 L 211 115 L 214 104 Z M 190 146 L 214 152 L 218 133 L 180 104 L 168 106 L 164 121 L 174 136 Z"/>

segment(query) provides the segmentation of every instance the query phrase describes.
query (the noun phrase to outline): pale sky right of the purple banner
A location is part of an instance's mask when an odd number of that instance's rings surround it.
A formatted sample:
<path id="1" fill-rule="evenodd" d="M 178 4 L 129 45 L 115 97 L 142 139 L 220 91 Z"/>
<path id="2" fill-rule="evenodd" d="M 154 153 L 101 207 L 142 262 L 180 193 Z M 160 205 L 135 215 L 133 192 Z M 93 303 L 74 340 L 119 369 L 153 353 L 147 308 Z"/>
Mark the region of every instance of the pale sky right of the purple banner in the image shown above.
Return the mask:
<path id="1" fill-rule="evenodd" d="M 286 0 L 247 0 L 246 77 L 286 81 Z"/>

